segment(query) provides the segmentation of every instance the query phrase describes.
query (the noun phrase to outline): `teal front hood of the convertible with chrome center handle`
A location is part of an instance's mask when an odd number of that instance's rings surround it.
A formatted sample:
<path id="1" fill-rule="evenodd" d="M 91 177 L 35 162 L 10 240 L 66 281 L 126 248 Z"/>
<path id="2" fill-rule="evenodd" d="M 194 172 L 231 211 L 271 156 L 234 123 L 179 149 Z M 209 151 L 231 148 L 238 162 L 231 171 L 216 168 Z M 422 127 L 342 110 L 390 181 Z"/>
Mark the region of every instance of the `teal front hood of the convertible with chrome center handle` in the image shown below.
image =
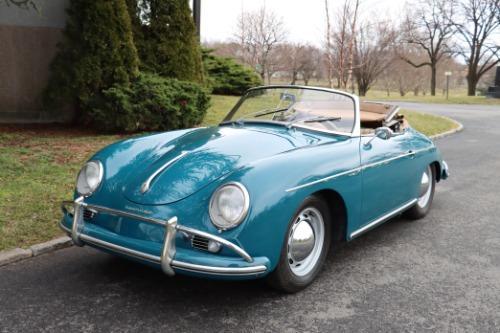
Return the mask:
<path id="1" fill-rule="evenodd" d="M 136 159 L 122 190 L 128 200 L 138 204 L 168 204 L 249 162 L 327 140 L 278 126 L 200 128 Z M 148 179 L 150 186 L 144 191 Z"/>

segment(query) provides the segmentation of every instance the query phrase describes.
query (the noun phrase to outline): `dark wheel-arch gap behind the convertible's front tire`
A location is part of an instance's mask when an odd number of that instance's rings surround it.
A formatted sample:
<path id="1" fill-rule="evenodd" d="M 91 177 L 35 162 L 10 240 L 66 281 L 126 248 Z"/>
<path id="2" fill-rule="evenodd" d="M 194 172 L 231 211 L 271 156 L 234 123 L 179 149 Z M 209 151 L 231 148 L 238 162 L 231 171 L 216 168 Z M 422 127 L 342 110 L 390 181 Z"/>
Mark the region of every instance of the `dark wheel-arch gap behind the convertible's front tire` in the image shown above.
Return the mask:
<path id="1" fill-rule="evenodd" d="M 347 236 L 347 208 L 342 196 L 335 190 L 325 189 L 312 195 L 325 201 L 332 216 L 333 240 L 337 242 L 346 241 Z"/>

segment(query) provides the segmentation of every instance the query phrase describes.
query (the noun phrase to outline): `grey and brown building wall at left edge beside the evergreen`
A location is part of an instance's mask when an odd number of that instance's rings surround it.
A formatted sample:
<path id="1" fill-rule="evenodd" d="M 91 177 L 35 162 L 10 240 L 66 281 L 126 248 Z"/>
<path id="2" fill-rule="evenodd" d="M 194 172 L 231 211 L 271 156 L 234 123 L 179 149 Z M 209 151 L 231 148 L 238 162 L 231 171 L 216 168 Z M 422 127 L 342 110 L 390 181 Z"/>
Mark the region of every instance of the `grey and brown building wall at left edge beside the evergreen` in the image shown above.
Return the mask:
<path id="1" fill-rule="evenodd" d="M 69 0 L 33 0 L 38 10 L 0 1 L 0 122 L 64 122 L 71 110 L 44 113 L 41 93 L 65 25 Z"/>

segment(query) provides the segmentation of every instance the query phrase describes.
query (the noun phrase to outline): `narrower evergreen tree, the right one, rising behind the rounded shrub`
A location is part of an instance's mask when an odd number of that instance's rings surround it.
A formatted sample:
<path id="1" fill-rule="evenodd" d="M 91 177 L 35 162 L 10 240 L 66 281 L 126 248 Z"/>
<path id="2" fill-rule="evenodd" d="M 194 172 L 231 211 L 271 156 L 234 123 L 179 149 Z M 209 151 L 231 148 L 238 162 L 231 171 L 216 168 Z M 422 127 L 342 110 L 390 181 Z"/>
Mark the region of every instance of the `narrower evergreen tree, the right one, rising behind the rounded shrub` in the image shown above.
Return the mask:
<path id="1" fill-rule="evenodd" d="M 201 50 L 188 0 L 142 0 L 140 7 L 142 68 L 201 82 Z"/>

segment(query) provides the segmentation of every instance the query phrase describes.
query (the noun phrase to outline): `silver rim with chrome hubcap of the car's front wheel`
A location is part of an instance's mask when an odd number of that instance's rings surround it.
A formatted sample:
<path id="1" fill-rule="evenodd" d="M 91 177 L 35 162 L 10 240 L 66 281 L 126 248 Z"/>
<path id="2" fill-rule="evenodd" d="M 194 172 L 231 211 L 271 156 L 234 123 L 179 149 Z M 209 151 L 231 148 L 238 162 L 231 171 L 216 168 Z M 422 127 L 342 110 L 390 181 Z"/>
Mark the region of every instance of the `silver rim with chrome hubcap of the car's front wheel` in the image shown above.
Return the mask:
<path id="1" fill-rule="evenodd" d="M 324 240 L 323 216 L 316 208 L 305 208 L 288 235 L 288 265 L 295 275 L 307 275 L 316 267 Z"/>

